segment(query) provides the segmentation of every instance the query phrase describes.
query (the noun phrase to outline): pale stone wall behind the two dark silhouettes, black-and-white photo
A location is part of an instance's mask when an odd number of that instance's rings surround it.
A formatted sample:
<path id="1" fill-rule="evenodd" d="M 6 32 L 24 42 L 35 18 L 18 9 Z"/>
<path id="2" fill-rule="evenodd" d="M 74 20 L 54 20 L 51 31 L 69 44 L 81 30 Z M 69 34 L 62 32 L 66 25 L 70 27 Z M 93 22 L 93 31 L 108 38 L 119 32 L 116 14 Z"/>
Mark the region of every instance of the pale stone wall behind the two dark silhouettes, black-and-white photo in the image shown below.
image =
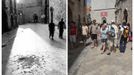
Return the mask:
<path id="1" fill-rule="evenodd" d="M 66 0 L 49 0 L 49 7 L 53 7 L 54 23 L 58 24 L 61 18 L 66 22 Z M 51 21 L 51 14 L 49 14 Z"/>

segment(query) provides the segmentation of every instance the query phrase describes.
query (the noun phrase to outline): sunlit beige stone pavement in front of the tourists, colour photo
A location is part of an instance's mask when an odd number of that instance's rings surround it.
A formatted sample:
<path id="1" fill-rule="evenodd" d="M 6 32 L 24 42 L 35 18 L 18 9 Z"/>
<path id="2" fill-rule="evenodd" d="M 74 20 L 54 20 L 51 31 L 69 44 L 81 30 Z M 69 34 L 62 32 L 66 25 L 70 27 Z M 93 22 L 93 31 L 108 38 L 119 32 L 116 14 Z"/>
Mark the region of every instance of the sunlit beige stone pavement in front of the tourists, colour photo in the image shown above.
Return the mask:
<path id="1" fill-rule="evenodd" d="M 70 68 L 69 75 L 132 75 L 131 44 L 127 44 L 124 54 L 117 50 L 111 55 L 101 54 L 100 45 L 93 49 L 87 46 Z"/>

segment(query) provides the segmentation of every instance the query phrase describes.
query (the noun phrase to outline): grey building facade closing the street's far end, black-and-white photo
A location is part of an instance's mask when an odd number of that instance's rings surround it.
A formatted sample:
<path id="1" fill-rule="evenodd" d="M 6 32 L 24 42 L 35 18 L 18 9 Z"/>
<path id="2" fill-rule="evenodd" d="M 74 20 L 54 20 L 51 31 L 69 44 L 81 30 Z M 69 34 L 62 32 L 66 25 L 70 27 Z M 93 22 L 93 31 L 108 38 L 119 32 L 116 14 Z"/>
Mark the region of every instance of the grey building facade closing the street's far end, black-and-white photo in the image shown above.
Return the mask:
<path id="1" fill-rule="evenodd" d="M 18 22 L 21 21 L 20 24 L 33 22 L 33 14 L 38 15 L 39 22 L 41 22 L 42 14 L 49 19 L 49 12 L 46 12 L 49 11 L 49 4 L 46 1 L 48 0 L 20 0 L 17 3 Z"/>

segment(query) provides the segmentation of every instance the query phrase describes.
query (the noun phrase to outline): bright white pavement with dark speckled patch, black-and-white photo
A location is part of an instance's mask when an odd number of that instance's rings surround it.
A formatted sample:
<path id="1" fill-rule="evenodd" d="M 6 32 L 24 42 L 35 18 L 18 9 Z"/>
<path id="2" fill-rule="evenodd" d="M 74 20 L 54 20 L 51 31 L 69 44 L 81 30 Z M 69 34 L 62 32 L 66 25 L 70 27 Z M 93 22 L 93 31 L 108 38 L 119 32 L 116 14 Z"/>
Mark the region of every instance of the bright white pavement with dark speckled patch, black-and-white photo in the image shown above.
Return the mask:
<path id="1" fill-rule="evenodd" d="M 54 41 L 49 39 L 48 25 L 20 25 L 10 51 L 5 75 L 66 75 L 66 33 L 59 39 L 56 27 Z M 11 47 L 12 46 L 12 47 Z M 9 48 L 11 47 L 11 49 Z M 3 53 L 3 56 L 7 53 Z M 3 62 L 8 57 L 3 57 Z"/>

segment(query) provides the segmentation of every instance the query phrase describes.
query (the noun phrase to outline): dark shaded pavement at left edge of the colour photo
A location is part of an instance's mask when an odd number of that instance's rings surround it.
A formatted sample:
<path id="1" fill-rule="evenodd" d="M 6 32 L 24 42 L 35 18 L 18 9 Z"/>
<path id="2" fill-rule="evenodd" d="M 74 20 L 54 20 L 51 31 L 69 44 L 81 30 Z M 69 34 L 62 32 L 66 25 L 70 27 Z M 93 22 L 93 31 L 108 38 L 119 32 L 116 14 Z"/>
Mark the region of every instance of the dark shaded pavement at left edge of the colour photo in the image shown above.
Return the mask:
<path id="1" fill-rule="evenodd" d="M 81 38 L 79 38 L 81 39 Z M 87 40 L 86 46 L 91 44 L 91 39 Z M 70 43 L 70 42 L 69 42 Z M 77 60 L 78 57 L 80 56 L 84 56 L 85 51 L 84 48 L 86 47 L 83 44 L 83 41 L 81 40 L 77 40 L 76 46 L 73 48 L 70 48 L 70 44 L 68 44 L 68 69 L 71 68 L 71 66 L 73 65 L 73 63 L 75 62 L 75 60 Z"/>

